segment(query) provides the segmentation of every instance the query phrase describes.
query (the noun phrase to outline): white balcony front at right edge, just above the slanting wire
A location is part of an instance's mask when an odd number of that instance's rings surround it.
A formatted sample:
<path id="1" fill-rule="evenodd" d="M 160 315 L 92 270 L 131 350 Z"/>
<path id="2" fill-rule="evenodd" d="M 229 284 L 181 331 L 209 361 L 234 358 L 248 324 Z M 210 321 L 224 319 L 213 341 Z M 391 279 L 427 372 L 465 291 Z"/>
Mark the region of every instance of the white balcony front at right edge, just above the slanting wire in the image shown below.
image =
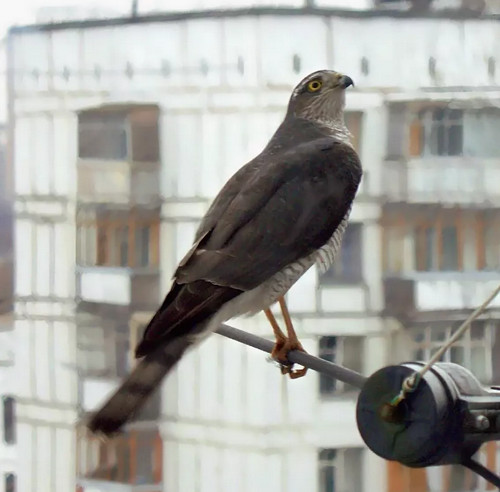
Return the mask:
<path id="1" fill-rule="evenodd" d="M 385 309 L 396 317 L 477 308 L 498 286 L 500 272 L 425 272 L 384 280 Z M 496 297 L 490 308 L 500 308 Z"/>

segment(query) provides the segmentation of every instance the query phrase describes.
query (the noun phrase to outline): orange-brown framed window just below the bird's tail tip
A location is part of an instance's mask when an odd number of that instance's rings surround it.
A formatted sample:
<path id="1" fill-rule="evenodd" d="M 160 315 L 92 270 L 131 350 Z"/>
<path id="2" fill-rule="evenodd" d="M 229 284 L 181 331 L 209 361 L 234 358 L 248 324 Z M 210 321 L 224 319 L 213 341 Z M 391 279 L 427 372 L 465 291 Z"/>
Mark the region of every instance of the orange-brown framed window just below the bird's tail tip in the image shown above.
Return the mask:
<path id="1" fill-rule="evenodd" d="M 162 441 L 153 429 L 141 429 L 102 441 L 78 435 L 78 476 L 94 480 L 153 485 L 162 481 Z"/>

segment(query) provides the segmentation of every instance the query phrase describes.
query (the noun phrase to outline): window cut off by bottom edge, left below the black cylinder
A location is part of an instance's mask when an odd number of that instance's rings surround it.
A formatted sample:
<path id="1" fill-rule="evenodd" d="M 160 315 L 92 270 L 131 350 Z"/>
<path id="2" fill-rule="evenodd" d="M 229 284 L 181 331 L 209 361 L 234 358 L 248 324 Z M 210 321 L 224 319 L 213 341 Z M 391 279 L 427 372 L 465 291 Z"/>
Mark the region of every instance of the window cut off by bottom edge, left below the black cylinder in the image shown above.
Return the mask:
<path id="1" fill-rule="evenodd" d="M 322 449 L 318 458 L 320 492 L 363 490 L 360 448 Z"/>

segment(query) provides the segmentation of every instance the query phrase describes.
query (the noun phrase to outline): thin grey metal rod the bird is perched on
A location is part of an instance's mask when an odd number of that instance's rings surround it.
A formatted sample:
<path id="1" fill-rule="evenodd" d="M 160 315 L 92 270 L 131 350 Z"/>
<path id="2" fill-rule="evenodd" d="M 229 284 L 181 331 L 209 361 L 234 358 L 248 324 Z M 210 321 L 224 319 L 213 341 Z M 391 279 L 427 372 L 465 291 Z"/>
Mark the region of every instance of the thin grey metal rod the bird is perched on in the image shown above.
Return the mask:
<path id="1" fill-rule="evenodd" d="M 262 350 L 263 352 L 267 352 L 268 354 L 271 353 L 274 347 L 274 343 L 271 340 L 266 340 L 265 338 L 252 335 L 251 333 L 238 330 L 237 328 L 228 325 L 221 325 L 216 330 L 216 333 L 226 338 L 230 338 L 231 340 L 244 343 L 245 345 L 258 350 Z M 305 352 L 292 350 L 288 354 L 288 360 L 294 364 L 300 364 L 301 366 L 312 369 L 313 371 L 331 376 L 332 378 L 338 379 L 339 381 L 350 384 L 359 389 L 363 387 L 366 381 L 366 377 L 356 371 L 352 371 L 351 369 L 328 362 Z"/>

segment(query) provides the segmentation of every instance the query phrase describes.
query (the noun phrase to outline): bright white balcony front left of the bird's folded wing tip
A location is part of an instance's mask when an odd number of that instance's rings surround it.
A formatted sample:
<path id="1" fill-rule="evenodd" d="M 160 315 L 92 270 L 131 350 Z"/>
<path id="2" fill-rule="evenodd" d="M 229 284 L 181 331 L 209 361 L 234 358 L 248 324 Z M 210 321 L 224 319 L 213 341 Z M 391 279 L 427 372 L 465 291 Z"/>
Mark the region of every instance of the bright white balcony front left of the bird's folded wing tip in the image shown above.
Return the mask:
<path id="1" fill-rule="evenodd" d="M 154 309 L 160 296 L 159 272 L 156 268 L 79 267 L 77 293 L 87 302 Z"/>

